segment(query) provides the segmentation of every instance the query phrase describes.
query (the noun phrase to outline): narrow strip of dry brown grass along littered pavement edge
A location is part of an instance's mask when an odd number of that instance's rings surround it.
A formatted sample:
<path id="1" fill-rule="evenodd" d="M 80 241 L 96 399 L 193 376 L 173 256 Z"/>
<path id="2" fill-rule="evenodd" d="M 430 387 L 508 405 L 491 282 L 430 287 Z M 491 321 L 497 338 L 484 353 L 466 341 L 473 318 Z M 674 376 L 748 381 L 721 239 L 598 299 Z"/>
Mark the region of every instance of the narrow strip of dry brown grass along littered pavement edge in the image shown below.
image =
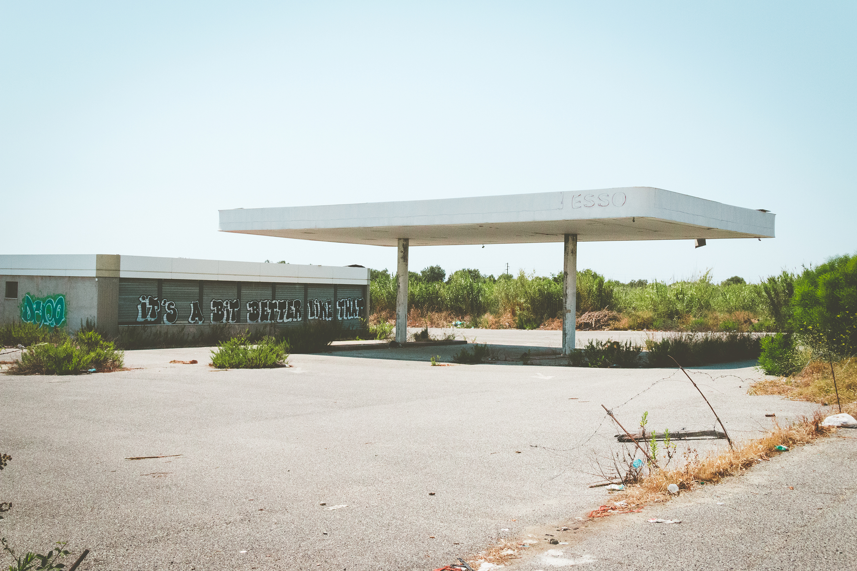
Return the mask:
<path id="1" fill-rule="evenodd" d="M 667 500 L 670 497 L 667 486 L 670 484 L 678 485 L 680 490 L 692 490 L 700 483 L 716 484 L 727 476 L 744 472 L 759 461 L 782 454 L 776 449 L 779 445 L 788 448 L 802 446 L 836 431 L 830 426 L 822 426 L 823 421 L 824 413 L 821 411 L 813 414 L 812 418 L 803 417 L 786 427 L 776 425 L 775 420 L 775 428 L 764 437 L 738 443 L 734 450 L 711 452 L 702 458 L 695 450 L 689 450 L 683 467 L 652 470 L 638 484 L 626 486 L 626 490 L 616 494 L 616 498 L 624 499 L 630 505 L 644 505 Z"/>

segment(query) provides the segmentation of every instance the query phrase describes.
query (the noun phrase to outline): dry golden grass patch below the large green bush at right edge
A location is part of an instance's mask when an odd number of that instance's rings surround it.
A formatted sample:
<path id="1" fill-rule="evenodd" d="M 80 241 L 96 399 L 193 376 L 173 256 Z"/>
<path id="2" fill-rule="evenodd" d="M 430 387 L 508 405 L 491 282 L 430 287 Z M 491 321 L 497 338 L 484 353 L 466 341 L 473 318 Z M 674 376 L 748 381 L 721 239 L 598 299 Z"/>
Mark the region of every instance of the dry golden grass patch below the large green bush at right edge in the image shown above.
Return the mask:
<path id="1" fill-rule="evenodd" d="M 833 364 L 833 370 L 836 372 L 842 412 L 854 416 L 857 413 L 857 363 L 853 358 L 841 360 Z M 818 402 L 836 407 L 836 390 L 833 388 L 830 364 L 820 361 L 811 361 L 802 371 L 789 378 L 753 383 L 747 392 L 750 395 L 781 395 L 793 401 Z"/>

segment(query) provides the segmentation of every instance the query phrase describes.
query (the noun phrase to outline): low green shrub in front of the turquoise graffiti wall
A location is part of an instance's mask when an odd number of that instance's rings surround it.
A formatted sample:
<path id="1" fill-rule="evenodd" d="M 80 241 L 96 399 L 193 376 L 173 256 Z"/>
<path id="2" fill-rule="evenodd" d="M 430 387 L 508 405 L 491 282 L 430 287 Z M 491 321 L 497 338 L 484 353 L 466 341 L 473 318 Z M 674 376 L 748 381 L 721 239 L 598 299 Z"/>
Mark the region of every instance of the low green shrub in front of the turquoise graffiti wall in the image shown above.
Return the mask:
<path id="1" fill-rule="evenodd" d="M 95 369 L 108 372 L 124 365 L 122 351 L 104 341 L 95 331 L 81 332 L 72 340 L 42 342 L 21 353 L 9 372 L 21 375 L 76 375 Z"/>

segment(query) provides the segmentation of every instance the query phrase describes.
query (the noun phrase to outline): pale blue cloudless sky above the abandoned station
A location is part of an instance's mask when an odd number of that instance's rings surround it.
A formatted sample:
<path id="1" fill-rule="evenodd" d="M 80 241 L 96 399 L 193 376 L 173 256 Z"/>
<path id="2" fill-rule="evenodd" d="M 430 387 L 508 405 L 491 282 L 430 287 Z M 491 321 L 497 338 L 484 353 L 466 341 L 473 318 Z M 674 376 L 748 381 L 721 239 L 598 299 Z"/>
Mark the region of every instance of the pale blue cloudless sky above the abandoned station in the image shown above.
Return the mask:
<path id="1" fill-rule="evenodd" d="M 855 3 L 0 2 L 2 253 L 393 267 L 218 209 L 653 186 L 776 239 L 581 244 L 623 281 L 854 253 Z M 561 269 L 561 244 L 411 268 Z"/>

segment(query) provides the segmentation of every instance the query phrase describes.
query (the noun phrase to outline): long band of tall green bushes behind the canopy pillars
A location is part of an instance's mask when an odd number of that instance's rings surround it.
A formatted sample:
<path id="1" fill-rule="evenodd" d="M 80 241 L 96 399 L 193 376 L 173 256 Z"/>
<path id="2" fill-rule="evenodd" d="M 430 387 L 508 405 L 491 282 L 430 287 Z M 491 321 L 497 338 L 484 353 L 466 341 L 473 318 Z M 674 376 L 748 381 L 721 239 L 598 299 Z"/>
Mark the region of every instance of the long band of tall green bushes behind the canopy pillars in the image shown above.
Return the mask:
<path id="1" fill-rule="evenodd" d="M 436 279 L 442 273 L 436 266 L 423 273 L 425 276 L 413 274 L 414 279 L 408 281 L 408 306 L 419 312 L 452 312 L 458 318 L 470 316 L 471 322 L 485 312 L 512 316 L 527 312 L 532 317 L 527 316 L 526 321 L 542 324 L 556 318 L 562 309 L 561 272 L 552 277 L 538 277 L 522 271 L 518 277 L 504 274 L 494 281 L 479 271 L 465 269 L 452 272 L 446 282 Z M 790 299 L 788 275 L 784 276 L 769 278 L 764 285 L 741 283 L 735 277 L 715 284 L 707 271 L 696 279 L 674 283 L 634 280 L 624 284 L 605 280 L 595 271 L 583 270 L 577 275 L 577 310 L 612 309 L 626 316 L 634 313 L 646 317 L 639 324 L 631 324 L 632 329 L 649 329 L 654 318 L 685 323 L 689 318 L 706 318 L 710 312 L 751 312 L 782 320 L 788 314 L 783 308 Z M 373 270 L 369 289 L 375 312 L 395 311 L 395 276 Z M 759 315 L 763 312 L 764 316 Z"/>

